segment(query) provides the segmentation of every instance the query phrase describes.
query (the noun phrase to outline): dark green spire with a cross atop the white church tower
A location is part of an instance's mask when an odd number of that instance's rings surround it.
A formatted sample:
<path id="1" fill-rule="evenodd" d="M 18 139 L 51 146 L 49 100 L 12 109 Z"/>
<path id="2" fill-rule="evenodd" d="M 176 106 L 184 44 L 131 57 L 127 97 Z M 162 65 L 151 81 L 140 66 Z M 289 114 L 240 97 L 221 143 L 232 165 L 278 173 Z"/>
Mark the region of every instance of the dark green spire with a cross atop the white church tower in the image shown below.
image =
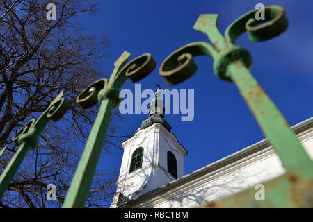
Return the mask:
<path id="1" fill-rule="evenodd" d="M 165 108 L 163 106 L 163 100 L 161 99 L 162 89 L 157 84 L 157 92 L 155 92 L 155 98 L 150 102 L 149 118 L 141 123 L 141 128 L 147 128 L 154 123 L 161 123 L 170 132 L 172 128 L 170 124 L 164 119 Z"/>

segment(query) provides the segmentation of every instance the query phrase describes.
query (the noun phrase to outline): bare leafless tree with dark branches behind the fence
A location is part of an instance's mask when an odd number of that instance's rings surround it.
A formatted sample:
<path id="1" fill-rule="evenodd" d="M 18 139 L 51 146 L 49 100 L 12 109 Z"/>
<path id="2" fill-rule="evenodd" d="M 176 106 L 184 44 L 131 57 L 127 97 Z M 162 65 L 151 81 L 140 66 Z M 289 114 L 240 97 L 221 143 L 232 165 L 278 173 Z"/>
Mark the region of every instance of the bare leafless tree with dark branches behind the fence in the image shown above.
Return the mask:
<path id="1" fill-rule="evenodd" d="M 56 20 L 47 19 L 47 5 L 56 5 Z M 103 78 L 100 62 L 106 56 L 104 35 L 89 35 L 77 17 L 95 12 L 84 0 L 0 0 L 0 171 L 18 146 L 11 142 L 24 123 L 47 108 L 64 91 L 71 108 L 63 119 L 49 123 L 40 145 L 29 151 L 0 200 L 0 207 L 61 207 L 98 108 L 82 110 L 74 103 L 83 88 Z M 104 143 L 114 145 L 118 112 Z M 117 173 L 96 171 L 86 207 L 106 207 Z M 46 187 L 56 185 L 57 200 L 47 201 Z"/>

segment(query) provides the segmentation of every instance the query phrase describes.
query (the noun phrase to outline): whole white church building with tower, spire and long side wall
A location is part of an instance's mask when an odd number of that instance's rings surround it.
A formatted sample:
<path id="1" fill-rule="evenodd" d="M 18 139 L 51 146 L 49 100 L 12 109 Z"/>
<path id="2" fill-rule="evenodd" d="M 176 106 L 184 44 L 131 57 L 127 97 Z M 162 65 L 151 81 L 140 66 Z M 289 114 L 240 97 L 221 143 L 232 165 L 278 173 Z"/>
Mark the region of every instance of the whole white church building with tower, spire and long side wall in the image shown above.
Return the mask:
<path id="1" fill-rule="evenodd" d="M 188 151 L 170 132 L 163 113 L 158 90 L 150 103 L 149 118 L 122 142 L 124 154 L 112 208 L 199 207 L 285 172 L 280 158 L 263 139 L 185 175 Z M 313 117 L 291 128 L 313 160 Z"/>

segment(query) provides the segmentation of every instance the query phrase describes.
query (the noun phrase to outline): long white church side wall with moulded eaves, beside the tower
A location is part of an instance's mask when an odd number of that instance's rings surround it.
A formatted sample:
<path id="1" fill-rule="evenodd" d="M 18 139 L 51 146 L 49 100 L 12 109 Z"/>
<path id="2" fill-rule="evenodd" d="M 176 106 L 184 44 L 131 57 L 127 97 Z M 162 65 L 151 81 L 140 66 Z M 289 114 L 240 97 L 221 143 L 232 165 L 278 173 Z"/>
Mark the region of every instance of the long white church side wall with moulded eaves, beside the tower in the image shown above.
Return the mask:
<path id="1" fill-rule="evenodd" d="M 304 122 L 294 128 L 300 143 L 313 160 L 313 118 Z M 310 127 L 304 130 L 304 126 Z M 264 139 L 141 196 L 125 207 L 198 207 L 284 173 L 280 158 Z"/>

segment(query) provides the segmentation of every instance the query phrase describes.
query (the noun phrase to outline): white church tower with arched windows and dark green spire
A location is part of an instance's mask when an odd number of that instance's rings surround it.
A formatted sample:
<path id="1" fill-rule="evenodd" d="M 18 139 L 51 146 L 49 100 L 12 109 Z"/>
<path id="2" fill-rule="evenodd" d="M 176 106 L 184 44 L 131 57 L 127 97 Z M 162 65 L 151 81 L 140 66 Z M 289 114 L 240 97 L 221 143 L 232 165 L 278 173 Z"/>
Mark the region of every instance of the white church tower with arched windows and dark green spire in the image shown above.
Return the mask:
<path id="1" fill-rule="evenodd" d="M 149 108 L 149 118 L 136 133 L 122 142 L 124 154 L 111 207 L 117 207 L 172 180 L 184 176 L 186 149 L 179 144 L 164 119 L 161 88 Z"/>

